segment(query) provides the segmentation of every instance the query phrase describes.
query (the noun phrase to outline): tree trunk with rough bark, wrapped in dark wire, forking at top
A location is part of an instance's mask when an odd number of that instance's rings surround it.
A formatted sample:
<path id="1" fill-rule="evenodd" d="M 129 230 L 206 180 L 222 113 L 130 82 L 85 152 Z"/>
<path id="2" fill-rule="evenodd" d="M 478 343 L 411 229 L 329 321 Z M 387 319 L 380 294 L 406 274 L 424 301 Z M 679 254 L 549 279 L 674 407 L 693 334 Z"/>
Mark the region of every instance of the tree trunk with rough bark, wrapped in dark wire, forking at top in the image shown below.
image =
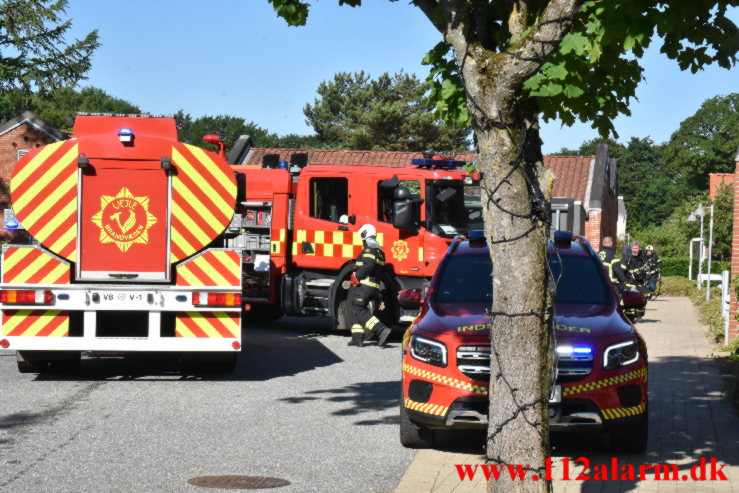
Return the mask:
<path id="1" fill-rule="evenodd" d="M 504 52 L 480 39 L 466 0 L 439 0 L 443 22 L 433 2 L 415 3 L 454 49 L 483 173 L 493 260 L 487 461 L 530 466 L 524 481 L 504 471 L 488 491 L 551 491 L 545 459 L 554 348 L 546 248 L 553 176 L 543 167 L 536 104 L 522 86 L 554 55 L 582 0 L 510 0 L 511 40 Z"/>

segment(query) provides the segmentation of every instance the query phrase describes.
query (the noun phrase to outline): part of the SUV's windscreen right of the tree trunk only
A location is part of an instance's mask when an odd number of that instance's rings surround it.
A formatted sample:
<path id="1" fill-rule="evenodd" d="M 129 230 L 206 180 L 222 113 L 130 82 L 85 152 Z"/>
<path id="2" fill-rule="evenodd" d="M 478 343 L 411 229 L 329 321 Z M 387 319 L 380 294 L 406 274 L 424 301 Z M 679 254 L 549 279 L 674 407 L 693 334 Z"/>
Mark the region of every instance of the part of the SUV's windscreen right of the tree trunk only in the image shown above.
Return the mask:
<path id="1" fill-rule="evenodd" d="M 603 277 L 603 268 L 590 257 L 549 255 L 549 267 L 557 283 L 556 303 L 606 305 L 611 295 Z"/>

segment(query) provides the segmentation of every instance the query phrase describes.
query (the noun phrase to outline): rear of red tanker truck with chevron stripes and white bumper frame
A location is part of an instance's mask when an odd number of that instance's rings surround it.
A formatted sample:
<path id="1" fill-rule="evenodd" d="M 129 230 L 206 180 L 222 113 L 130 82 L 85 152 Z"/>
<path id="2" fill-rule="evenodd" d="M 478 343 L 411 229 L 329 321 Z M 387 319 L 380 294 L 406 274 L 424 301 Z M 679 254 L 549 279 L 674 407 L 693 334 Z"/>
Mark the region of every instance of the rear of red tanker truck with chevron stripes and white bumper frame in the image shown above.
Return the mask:
<path id="1" fill-rule="evenodd" d="M 223 245 L 237 189 L 222 157 L 177 142 L 172 118 L 78 115 L 70 140 L 13 169 L 32 241 L 2 248 L 0 350 L 21 372 L 70 369 L 83 351 L 231 370 L 242 262 Z"/>

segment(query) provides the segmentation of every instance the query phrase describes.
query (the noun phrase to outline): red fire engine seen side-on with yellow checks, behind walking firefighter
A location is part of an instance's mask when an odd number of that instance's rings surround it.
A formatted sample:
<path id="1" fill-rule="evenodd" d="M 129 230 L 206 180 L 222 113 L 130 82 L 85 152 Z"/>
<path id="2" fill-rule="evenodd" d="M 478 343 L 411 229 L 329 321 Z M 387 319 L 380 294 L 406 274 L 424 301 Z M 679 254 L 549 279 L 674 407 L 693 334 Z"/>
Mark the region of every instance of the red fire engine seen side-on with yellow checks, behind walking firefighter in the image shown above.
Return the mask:
<path id="1" fill-rule="evenodd" d="M 416 159 L 389 168 L 307 165 L 300 153 L 292 162 L 277 158 L 265 156 L 261 169 L 234 166 L 246 175 L 247 192 L 232 223 L 241 234 L 227 244 L 246 251 L 252 316 L 327 315 L 337 330 L 348 329 L 342 284 L 362 248 L 358 230 L 372 223 L 388 262 L 384 303 L 374 310 L 385 323 L 409 322 L 416 313 L 399 306 L 398 292 L 423 291 L 451 239 L 482 227 L 478 176 L 464 162 Z"/>

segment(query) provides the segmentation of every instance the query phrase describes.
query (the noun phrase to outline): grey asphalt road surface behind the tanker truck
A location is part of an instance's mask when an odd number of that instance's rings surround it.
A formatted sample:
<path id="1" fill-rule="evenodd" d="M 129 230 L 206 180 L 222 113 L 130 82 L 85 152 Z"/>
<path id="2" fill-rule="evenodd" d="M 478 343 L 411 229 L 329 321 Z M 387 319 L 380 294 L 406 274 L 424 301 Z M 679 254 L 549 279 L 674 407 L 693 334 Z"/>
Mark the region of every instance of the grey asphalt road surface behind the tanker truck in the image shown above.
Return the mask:
<path id="1" fill-rule="evenodd" d="M 226 491 L 187 483 L 206 475 L 392 491 L 413 458 L 398 441 L 400 334 L 347 341 L 323 319 L 283 319 L 247 329 L 235 374 L 206 378 L 169 355 L 37 376 L 2 354 L 0 491 Z"/>

